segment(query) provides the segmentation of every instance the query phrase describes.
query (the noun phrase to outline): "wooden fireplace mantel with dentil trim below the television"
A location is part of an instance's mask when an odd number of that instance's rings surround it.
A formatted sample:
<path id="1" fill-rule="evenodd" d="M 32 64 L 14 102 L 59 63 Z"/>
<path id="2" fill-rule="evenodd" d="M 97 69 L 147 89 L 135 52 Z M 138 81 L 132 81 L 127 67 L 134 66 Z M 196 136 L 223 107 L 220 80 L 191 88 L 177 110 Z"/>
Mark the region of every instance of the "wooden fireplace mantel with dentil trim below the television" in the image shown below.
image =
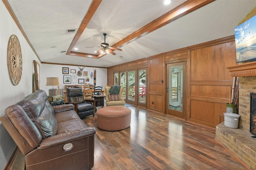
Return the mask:
<path id="1" fill-rule="evenodd" d="M 256 61 L 227 67 L 232 77 L 256 76 Z"/>

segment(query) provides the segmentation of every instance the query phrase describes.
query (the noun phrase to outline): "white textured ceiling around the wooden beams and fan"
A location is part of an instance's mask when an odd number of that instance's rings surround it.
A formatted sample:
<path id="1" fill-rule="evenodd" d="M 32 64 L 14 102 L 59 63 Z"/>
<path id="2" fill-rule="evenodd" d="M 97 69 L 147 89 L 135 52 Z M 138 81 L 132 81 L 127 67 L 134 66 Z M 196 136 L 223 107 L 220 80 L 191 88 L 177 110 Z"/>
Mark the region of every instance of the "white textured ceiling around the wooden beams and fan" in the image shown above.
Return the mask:
<path id="1" fill-rule="evenodd" d="M 66 30 L 79 29 L 92 0 L 8 2 L 42 62 L 99 67 L 234 35 L 237 24 L 256 6 L 256 0 L 216 0 L 122 45 L 122 51 L 114 51 L 116 55 L 92 59 L 61 53 L 68 51 L 76 35 Z M 94 54 L 104 42 L 103 33 L 107 33 L 106 43 L 112 46 L 184 2 L 172 0 L 164 6 L 163 0 L 102 0 L 72 51 Z"/>

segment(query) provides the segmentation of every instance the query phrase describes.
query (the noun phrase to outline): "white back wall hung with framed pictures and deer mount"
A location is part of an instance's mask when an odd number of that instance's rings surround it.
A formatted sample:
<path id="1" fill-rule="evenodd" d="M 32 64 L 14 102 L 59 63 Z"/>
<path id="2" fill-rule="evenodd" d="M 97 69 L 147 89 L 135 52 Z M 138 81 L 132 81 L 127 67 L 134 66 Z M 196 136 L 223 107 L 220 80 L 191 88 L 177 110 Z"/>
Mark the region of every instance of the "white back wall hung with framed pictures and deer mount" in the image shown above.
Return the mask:
<path id="1" fill-rule="evenodd" d="M 95 59 L 96 60 L 96 59 Z M 65 85 L 83 85 L 78 84 L 78 78 L 79 79 L 85 79 L 86 77 L 89 78 L 88 84 L 94 84 L 93 77 L 90 77 L 91 72 L 94 73 L 94 70 L 96 70 L 96 86 L 102 86 L 102 89 L 107 85 L 107 68 L 94 68 L 94 67 L 85 67 L 83 70 L 88 72 L 88 76 L 82 76 L 78 77 L 77 72 L 79 71 L 78 66 L 67 66 L 67 65 L 56 65 L 56 64 L 41 64 L 41 72 L 40 72 L 40 89 L 46 91 L 48 94 L 48 90 L 52 88 L 52 86 L 46 86 L 46 77 L 58 77 L 59 78 L 59 87 L 61 90 L 61 93 L 63 95 L 62 90 L 64 90 Z M 62 67 L 68 67 L 69 74 L 62 74 Z M 76 73 L 70 73 L 70 69 L 75 69 Z M 72 83 L 72 75 L 76 75 L 76 83 Z M 63 78 L 64 75 L 71 76 L 71 84 L 64 84 Z M 57 88 L 57 86 L 53 86 L 53 88 Z"/>

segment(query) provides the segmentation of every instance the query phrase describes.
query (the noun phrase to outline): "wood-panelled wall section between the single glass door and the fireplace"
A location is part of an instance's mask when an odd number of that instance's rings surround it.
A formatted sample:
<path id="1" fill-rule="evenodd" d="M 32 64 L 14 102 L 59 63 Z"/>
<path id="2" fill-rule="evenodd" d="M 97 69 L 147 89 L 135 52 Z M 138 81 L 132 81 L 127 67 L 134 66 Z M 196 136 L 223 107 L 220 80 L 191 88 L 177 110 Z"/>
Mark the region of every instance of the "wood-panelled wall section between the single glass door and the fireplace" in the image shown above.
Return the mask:
<path id="1" fill-rule="evenodd" d="M 190 49 L 186 119 L 215 127 L 226 112 L 233 78 L 227 67 L 236 64 L 234 37 Z"/>

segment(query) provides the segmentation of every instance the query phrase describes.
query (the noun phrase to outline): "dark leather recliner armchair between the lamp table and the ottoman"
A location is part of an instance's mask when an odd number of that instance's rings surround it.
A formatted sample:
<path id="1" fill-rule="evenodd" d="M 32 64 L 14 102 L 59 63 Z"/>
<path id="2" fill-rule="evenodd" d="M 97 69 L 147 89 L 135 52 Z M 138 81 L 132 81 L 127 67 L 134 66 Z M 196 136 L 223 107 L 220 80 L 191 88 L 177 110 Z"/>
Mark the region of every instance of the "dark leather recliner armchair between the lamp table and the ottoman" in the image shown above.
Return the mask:
<path id="1" fill-rule="evenodd" d="M 78 113 L 80 118 L 88 115 L 95 115 L 96 100 L 85 100 L 82 88 L 68 88 L 66 99 L 67 103 L 74 104 L 76 113 Z"/>

